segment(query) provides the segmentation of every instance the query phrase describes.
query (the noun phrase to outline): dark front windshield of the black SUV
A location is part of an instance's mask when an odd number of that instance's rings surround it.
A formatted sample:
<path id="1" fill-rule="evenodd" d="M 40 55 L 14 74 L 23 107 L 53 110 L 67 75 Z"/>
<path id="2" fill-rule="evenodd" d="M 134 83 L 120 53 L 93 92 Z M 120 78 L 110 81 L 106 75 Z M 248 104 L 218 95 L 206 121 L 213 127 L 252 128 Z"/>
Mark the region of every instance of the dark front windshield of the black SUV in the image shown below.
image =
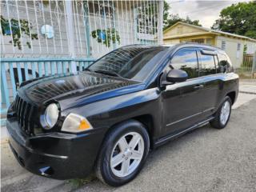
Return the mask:
<path id="1" fill-rule="evenodd" d="M 143 81 L 165 53 L 166 47 L 159 46 L 121 47 L 94 62 L 87 70 Z"/>

